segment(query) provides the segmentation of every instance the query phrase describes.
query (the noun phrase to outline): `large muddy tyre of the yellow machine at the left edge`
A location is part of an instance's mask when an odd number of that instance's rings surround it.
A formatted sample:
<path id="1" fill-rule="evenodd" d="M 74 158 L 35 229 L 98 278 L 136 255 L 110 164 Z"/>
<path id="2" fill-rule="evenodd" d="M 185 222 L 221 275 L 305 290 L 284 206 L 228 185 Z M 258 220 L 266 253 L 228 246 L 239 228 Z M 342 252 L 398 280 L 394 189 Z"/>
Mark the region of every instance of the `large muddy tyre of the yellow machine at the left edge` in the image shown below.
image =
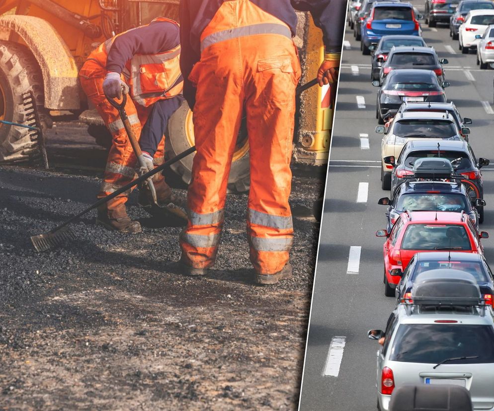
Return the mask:
<path id="1" fill-rule="evenodd" d="M 33 90 L 43 129 L 51 127 L 49 112 L 44 108 L 43 75 L 23 45 L 0 40 L 0 119 L 26 124 L 22 94 Z M 40 156 L 36 137 L 25 128 L 1 125 L 0 164 L 32 161 Z"/>

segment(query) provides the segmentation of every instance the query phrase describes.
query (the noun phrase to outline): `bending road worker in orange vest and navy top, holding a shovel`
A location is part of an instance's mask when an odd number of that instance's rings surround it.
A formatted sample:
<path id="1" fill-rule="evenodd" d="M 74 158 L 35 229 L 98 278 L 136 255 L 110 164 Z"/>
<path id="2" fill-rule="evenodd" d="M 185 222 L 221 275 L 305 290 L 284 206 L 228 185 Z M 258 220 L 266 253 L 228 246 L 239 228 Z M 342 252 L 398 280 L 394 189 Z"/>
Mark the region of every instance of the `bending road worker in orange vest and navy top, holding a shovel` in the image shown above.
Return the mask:
<path id="1" fill-rule="evenodd" d="M 125 110 L 134 134 L 140 138 L 148 170 L 152 170 L 164 161 L 166 124 L 183 101 L 179 56 L 177 22 L 159 17 L 148 25 L 108 39 L 82 66 L 79 72 L 82 89 L 113 137 L 98 198 L 113 193 L 136 177 L 137 160 L 132 146 L 117 109 L 108 102 L 105 93 L 118 99 L 122 98 L 122 92 L 130 94 Z M 140 189 L 139 204 L 155 216 L 168 217 L 170 209 L 176 214 L 177 207 L 166 206 L 172 193 L 165 178 L 156 174 L 153 184 L 160 206 L 154 204 L 146 185 Z M 127 214 L 128 195 L 126 192 L 98 208 L 96 223 L 123 233 L 140 232 L 140 223 Z"/>

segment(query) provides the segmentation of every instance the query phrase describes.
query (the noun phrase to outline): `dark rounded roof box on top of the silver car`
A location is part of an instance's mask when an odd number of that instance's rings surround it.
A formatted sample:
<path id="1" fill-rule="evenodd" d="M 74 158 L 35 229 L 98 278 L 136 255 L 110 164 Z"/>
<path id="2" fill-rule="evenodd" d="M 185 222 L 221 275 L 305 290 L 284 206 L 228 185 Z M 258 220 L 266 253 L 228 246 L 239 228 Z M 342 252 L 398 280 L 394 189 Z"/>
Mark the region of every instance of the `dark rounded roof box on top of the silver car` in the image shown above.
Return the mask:
<path id="1" fill-rule="evenodd" d="M 429 270 L 420 273 L 412 286 L 413 304 L 480 305 L 482 295 L 475 277 L 466 271 Z"/>

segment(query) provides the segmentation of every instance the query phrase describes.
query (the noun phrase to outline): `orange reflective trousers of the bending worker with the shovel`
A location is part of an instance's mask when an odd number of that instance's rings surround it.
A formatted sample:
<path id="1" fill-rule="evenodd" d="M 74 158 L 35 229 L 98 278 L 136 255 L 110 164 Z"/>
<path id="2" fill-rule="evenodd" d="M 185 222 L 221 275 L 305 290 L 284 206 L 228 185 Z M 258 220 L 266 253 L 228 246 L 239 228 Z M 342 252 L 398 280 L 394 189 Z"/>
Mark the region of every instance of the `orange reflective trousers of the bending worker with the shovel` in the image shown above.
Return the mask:
<path id="1" fill-rule="evenodd" d="M 113 107 L 105 97 L 103 92 L 103 80 L 106 71 L 94 60 L 87 60 L 79 72 L 81 86 L 87 98 L 96 106 L 96 110 L 103 119 L 106 127 L 110 131 L 113 141 L 108 153 L 108 160 L 103 174 L 100 191 L 97 198 L 105 197 L 119 188 L 130 183 L 136 176 L 136 156 L 127 137 L 118 110 Z M 124 78 L 124 77 L 122 77 Z M 132 130 L 136 138 L 141 137 L 141 130 L 151 114 L 153 106 L 144 107 L 135 104 L 130 96 L 127 98 L 125 111 L 129 117 Z M 165 139 L 162 139 L 154 155 L 153 163 L 162 164 L 165 156 Z M 164 179 L 160 174 L 160 180 Z M 161 181 L 155 182 L 160 184 Z M 163 181 L 164 183 L 164 181 Z M 122 206 L 127 201 L 128 192 L 125 192 L 108 202 L 107 208 L 114 209 Z"/>

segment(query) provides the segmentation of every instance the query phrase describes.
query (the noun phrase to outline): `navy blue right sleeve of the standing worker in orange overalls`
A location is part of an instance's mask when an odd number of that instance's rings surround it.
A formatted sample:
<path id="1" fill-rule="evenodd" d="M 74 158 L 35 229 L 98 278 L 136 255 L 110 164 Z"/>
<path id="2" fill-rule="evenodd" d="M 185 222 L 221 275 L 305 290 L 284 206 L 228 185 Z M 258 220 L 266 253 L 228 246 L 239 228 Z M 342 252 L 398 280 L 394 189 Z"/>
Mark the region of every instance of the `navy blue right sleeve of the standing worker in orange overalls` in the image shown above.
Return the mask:
<path id="1" fill-rule="evenodd" d="M 341 53 L 345 27 L 346 0 L 291 0 L 293 8 L 310 11 L 314 23 L 323 30 L 328 53 Z"/>

